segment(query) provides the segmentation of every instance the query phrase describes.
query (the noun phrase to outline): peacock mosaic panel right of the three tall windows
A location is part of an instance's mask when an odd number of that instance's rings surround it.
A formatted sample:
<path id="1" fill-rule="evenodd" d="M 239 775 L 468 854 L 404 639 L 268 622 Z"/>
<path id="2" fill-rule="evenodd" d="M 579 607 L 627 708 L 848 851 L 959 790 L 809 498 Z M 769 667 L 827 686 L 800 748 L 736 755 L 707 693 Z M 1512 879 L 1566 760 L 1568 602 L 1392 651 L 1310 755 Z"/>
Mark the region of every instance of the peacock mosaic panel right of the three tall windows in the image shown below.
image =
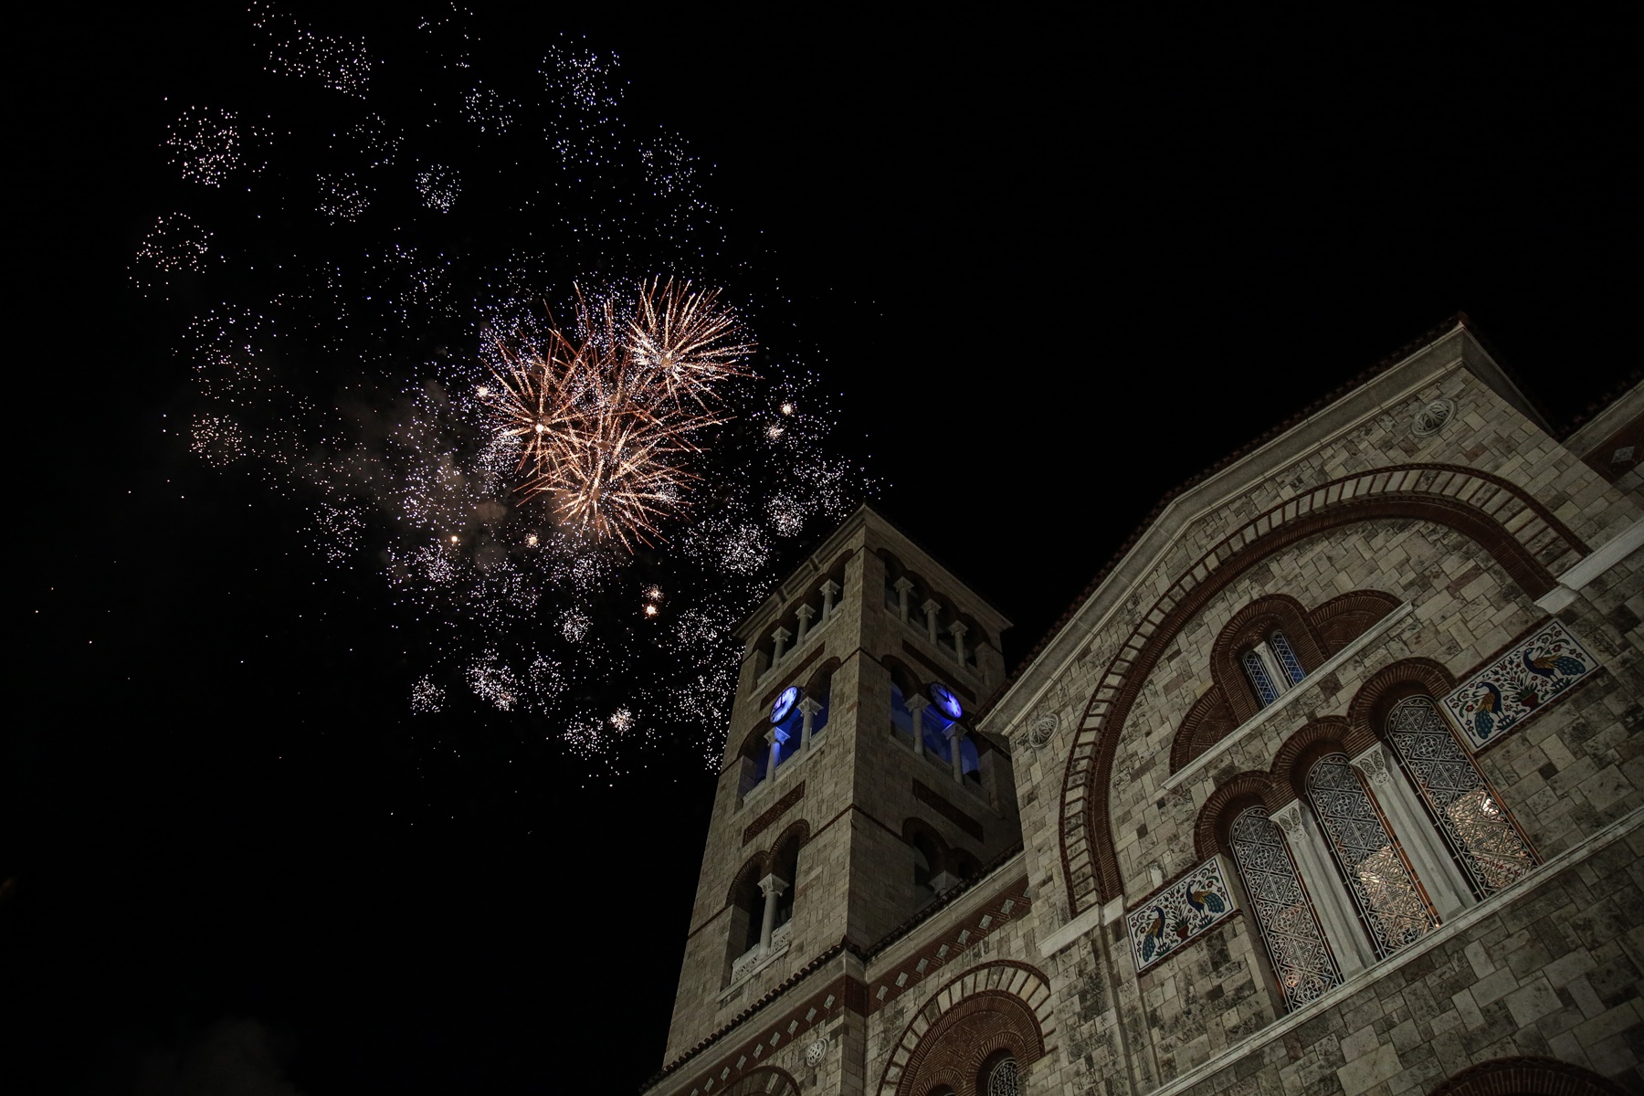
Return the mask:
<path id="1" fill-rule="evenodd" d="M 1596 665 L 1563 624 L 1550 621 L 1457 685 L 1443 708 L 1478 751 L 1567 693 Z"/>

